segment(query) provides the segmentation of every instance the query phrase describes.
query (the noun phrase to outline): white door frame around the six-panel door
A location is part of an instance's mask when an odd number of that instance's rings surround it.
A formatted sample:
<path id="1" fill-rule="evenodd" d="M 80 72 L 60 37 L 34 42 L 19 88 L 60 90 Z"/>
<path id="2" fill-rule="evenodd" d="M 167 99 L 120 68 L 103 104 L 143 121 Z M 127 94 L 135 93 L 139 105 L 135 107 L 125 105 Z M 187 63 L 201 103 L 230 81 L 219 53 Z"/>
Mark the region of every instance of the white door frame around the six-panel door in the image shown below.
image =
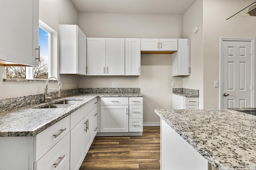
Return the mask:
<path id="1" fill-rule="evenodd" d="M 223 41 L 249 41 L 251 42 L 251 107 L 254 107 L 254 70 L 255 70 L 255 39 L 254 38 L 220 38 L 220 91 L 219 91 L 219 109 L 222 109 L 223 94 Z"/>

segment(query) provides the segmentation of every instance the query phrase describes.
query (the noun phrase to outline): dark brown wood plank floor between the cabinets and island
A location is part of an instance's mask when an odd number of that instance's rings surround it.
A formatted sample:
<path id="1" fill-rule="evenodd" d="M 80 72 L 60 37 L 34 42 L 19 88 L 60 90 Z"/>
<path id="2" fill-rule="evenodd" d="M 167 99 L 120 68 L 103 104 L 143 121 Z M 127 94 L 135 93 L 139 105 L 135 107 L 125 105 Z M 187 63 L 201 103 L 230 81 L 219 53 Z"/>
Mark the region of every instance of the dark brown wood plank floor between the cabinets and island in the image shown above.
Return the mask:
<path id="1" fill-rule="evenodd" d="M 160 127 L 143 127 L 143 136 L 95 137 L 79 170 L 160 170 Z"/>

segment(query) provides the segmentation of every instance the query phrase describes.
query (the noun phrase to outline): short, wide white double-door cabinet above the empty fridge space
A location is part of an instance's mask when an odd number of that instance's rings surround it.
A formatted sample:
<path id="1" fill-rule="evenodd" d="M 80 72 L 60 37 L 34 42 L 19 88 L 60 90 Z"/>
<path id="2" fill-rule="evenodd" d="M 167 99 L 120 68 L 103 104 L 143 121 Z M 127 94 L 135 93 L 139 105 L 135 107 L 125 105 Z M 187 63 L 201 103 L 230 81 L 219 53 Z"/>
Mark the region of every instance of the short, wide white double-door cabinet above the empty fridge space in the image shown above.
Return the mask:
<path id="1" fill-rule="evenodd" d="M 177 51 L 178 39 L 141 39 L 141 51 Z"/>

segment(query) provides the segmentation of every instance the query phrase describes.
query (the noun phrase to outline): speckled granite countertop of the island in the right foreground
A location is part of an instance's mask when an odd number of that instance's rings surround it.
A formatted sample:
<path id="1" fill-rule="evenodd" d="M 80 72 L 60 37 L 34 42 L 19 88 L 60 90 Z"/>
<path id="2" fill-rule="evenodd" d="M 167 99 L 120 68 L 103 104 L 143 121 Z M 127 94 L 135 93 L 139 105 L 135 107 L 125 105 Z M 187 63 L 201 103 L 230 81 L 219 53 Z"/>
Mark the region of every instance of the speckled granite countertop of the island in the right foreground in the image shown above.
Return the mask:
<path id="1" fill-rule="evenodd" d="M 256 165 L 255 115 L 229 109 L 156 109 L 155 113 L 218 170 Z"/>

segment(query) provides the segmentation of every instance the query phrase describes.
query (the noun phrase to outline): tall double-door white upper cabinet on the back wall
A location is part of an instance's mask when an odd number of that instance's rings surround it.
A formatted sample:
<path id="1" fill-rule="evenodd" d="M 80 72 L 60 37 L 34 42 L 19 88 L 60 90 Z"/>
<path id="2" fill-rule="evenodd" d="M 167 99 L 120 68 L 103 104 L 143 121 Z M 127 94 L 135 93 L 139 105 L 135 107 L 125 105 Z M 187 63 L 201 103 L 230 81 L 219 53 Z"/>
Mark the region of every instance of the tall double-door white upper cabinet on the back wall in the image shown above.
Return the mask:
<path id="1" fill-rule="evenodd" d="M 124 38 L 87 38 L 87 75 L 124 75 Z"/>

